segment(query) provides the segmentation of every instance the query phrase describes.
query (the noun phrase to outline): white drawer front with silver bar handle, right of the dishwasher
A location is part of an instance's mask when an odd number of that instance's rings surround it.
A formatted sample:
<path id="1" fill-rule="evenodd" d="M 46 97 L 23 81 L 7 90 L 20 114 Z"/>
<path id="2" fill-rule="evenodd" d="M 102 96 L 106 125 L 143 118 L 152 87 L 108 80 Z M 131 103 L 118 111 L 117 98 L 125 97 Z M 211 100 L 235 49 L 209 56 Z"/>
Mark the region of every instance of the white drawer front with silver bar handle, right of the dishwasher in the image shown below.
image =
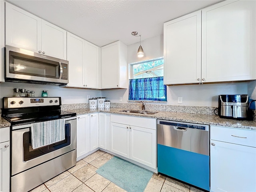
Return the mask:
<path id="1" fill-rule="evenodd" d="M 256 130 L 210 126 L 211 140 L 256 147 Z"/>

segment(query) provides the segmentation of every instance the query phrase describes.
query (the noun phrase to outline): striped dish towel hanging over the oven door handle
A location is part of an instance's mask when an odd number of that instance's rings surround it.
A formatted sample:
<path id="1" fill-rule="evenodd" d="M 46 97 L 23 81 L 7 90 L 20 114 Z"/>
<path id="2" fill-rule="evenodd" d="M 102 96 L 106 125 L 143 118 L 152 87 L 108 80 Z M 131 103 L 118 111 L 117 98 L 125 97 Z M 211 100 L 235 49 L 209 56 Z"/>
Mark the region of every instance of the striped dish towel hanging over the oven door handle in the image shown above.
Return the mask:
<path id="1" fill-rule="evenodd" d="M 65 118 L 31 124 L 32 148 L 37 149 L 65 139 Z"/>

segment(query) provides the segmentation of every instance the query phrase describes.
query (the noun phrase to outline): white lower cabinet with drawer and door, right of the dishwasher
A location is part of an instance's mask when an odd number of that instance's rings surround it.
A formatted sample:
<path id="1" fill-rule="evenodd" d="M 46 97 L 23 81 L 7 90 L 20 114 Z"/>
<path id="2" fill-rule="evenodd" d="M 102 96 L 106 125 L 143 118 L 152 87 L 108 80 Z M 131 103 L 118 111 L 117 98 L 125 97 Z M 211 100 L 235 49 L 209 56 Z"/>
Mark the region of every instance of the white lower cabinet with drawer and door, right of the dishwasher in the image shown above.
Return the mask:
<path id="1" fill-rule="evenodd" d="M 210 191 L 256 191 L 256 131 L 210 126 Z"/>

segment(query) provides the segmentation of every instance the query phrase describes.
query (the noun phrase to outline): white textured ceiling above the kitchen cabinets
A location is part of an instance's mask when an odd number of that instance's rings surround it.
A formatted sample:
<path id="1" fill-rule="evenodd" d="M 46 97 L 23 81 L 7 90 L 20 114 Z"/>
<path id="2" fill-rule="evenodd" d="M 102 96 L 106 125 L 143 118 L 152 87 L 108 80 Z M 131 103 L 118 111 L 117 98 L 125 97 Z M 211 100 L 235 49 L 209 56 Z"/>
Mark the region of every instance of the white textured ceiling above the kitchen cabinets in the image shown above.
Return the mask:
<path id="1" fill-rule="evenodd" d="M 8 0 L 101 47 L 130 45 L 163 34 L 163 23 L 220 0 Z"/>

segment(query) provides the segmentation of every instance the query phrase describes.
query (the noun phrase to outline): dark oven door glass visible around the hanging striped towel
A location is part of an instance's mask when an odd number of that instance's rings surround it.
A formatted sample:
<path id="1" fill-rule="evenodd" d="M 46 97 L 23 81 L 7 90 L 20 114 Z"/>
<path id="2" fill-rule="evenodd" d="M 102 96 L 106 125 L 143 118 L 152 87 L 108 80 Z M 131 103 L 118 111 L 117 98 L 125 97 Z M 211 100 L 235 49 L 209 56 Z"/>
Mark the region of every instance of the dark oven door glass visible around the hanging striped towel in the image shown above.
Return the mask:
<path id="1" fill-rule="evenodd" d="M 44 146 L 38 149 L 33 150 L 31 144 L 31 131 L 23 134 L 23 150 L 24 150 L 24 161 L 34 159 L 36 157 L 42 156 L 44 154 L 50 153 L 52 151 L 58 150 L 65 146 L 70 145 L 70 123 L 65 124 L 65 140 Z"/>

